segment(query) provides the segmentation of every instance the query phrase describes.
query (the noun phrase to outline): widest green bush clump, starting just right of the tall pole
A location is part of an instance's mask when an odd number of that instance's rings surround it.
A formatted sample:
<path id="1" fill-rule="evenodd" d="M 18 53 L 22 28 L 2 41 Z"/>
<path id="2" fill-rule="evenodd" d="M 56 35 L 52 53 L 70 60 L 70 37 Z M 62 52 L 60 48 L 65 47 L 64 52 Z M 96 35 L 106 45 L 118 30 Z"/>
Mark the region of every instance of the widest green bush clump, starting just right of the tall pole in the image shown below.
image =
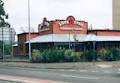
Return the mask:
<path id="1" fill-rule="evenodd" d="M 48 49 L 44 51 L 34 50 L 31 62 L 76 62 L 80 61 L 80 56 L 75 55 L 73 50 Z"/>

